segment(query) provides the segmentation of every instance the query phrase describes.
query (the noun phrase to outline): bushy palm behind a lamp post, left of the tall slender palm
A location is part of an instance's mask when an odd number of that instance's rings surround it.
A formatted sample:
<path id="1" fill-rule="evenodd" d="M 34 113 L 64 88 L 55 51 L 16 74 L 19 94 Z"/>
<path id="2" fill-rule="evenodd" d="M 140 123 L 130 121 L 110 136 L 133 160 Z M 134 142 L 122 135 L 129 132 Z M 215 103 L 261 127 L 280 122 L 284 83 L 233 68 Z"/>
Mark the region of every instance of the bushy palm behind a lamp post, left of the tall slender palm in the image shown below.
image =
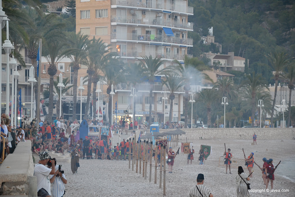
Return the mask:
<path id="1" fill-rule="evenodd" d="M 263 87 L 266 87 L 266 85 L 263 83 L 263 78 L 259 74 L 255 74 L 255 72 L 252 73 L 252 75 L 246 75 L 247 79 L 244 80 L 241 84 L 241 87 L 244 87 L 242 91 L 246 92 L 247 95 L 249 95 L 250 99 L 250 105 L 251 105 L 251 116 L 254 119 L 255 111 L 256 111 L 256 94 L 263 90 Z M 266 87 L 267 88 L 267 87 Z M 254 127 L 254 121 L 252 121 L 252 126 Z"/>

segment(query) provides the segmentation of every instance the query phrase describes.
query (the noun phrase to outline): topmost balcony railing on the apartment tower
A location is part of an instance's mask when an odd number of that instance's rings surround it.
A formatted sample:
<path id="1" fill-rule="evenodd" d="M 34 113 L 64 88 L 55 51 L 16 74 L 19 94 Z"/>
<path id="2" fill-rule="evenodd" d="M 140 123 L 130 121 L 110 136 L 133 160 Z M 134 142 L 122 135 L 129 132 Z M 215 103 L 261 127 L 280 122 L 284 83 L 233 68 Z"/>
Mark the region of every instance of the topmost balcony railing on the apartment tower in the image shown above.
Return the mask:
<path id="1" fill-rule="evenodd" d="M 169 4 L 164 3 L 163 1 L 145 1 L 145 0 L 112 0 L 112 5 L 122 5 L 122 6 L 134 6 L 134 7 L 143 7 L 143 8 L 158 8 L 158 9 L 167 9 L 173 10 L 177 12 L 186 12 L 186 13 L 194 13 L 194 8 L 190 6 L 184 5 L 176 5 L 176 4 Z"/>

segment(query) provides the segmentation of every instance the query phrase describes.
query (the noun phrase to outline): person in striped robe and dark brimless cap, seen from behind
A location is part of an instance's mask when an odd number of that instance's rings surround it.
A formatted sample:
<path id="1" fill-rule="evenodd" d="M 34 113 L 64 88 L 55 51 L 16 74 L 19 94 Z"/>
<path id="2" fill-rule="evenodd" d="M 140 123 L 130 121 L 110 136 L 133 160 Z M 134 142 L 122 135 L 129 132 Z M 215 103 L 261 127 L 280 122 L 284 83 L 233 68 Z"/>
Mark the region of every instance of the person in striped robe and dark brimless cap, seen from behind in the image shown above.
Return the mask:
<path id="1" fill-rule="evenodd" d="M 213 194 L 210 192 L 204 184 L 204 175 L 198 174 L 197 185 L 193 186 L 189 191 L 189 197 L 213 197 Z"/>

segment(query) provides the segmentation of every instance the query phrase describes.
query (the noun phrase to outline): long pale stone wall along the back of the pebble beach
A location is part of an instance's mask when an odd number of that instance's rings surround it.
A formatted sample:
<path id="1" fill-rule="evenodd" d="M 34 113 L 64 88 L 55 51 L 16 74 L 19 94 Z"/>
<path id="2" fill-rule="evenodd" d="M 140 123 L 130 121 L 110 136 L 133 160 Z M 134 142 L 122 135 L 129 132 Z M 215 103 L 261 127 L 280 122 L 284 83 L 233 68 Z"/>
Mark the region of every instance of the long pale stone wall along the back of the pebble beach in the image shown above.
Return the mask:
<path id="1" fill-rule="evenodd" d="M 295 139 L 295 128 L 186 128 L 179 139 L 252 139 L 254 132 L 259 140 Z M 160 129 L 160 132 L 167 131 Z"/>

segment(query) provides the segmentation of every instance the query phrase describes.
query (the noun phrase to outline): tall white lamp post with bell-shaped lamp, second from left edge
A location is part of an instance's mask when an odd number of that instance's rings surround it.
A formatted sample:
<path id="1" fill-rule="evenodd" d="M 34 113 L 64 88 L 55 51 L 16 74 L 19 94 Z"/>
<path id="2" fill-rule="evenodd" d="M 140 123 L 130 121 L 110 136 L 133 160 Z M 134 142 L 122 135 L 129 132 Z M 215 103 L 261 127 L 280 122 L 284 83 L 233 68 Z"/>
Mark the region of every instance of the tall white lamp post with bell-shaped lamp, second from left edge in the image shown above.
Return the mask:
<path id="1" fill-rule="evenodd" d="M 6 21 L 6 40 L 4 41 L 4 44 L 2 45 L 2 48 L 4 49 L 6 53 L 6 114 L 9 114 L 9 54 L 11 53 L 11 50 L 14 49 L 14 46 L 9 40 L 9 26 L 8 26 L 8 20 Z M 2 69 L 2 68 L 1 68 Z"/>

